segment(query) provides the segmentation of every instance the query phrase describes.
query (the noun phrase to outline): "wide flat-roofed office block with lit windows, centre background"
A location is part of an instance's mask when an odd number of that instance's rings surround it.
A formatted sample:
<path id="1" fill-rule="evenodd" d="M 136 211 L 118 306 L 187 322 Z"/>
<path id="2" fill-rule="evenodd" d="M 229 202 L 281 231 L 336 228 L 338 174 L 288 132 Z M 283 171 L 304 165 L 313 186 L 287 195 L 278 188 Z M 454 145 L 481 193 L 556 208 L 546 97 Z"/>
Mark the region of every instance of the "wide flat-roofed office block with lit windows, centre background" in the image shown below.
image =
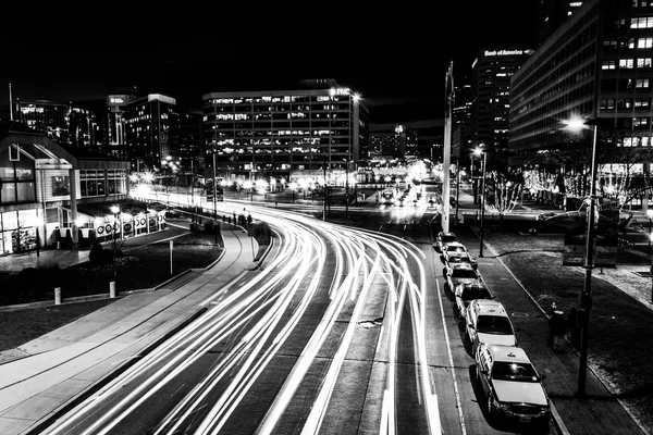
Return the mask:
<path id="1" fill-rule="evenodd" d="M 288 177 L 344 170 L 368 149 L 368 110 L 333 79 L 300 89 L 211 92 L 204 99 L 204 145 L 225 177 Z M 309 86 L 306 86 L 309 85 Z M 349 166 L 352 167 L 352 166 Z"/>

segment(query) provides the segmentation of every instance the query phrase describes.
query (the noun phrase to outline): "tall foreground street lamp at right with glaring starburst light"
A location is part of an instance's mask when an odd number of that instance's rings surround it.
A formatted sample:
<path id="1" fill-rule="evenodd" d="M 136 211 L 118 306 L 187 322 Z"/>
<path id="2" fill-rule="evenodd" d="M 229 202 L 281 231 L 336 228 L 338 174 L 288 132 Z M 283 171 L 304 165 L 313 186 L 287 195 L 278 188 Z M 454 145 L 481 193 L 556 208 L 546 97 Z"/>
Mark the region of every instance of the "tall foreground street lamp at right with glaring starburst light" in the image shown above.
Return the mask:
<path id="1" fill-rule="evenodd" d="M 589 126 L 583 122 L 582 119 L 575 116 L 568 121 L 565 121 L 567 129 L 571 132 L 580 132 Z M 590 308 L 592 306 L 592 269 L 594 269 L 594 201 L 596 200 L 596 133 L 597 125 L 596 121 L 593 121 L 594 132 L 592 138 L 592 167 L 591 167 L 591 182 L 590 182 L 590 210 L 588 212 L 588 232 L 587 232 L 587 244 L 586 244 L 586 281 L 583 291 L 580 294 L 580 362 L 578 366 L 578 396 L 586 397 L 586 383 L 588 372 L 588 344 L 589 344 L 589 328 L 590 328 Z"/>

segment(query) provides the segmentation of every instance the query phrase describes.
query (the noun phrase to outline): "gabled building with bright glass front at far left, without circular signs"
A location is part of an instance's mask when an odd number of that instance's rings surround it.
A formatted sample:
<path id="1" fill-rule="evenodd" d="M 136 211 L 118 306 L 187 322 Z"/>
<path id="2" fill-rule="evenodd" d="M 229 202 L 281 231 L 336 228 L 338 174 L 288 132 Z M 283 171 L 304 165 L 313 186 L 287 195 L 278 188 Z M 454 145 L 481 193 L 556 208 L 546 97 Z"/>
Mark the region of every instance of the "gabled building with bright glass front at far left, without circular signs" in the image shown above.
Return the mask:
<path id="1" fill-rule="evenodd" d="M 128 167 L 126 160 L 73 156 L 41 134 L 0 138 L 0 256 L 89 244 L 95 225 L 77 207 L 126 200 Z"/>

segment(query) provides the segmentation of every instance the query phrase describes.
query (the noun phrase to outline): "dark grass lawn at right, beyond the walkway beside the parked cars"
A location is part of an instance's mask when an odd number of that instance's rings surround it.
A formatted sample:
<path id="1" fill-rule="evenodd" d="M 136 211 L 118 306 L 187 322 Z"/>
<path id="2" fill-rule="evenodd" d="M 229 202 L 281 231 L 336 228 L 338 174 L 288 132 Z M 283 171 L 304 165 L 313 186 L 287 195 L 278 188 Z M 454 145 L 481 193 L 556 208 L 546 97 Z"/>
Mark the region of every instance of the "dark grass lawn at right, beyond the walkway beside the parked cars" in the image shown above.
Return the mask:
<path id="1" fill-rule="evenodd" d="M 578 306 L 586 273 L 579 266 L 562 265 L 562 237 L 495 233 L 485 237 L 485 243 L 545 311 L 555 307 L 568 316 Z M 628 274 L 632 274 L 632 261 L 641 261 L 642 271 L 650 268 L 650 260 L 638 260 L 627 251 L 620 252 L 617 261 L 629 263 L 624 271 Z M 612 279 L 602 279 L 601 273 L 595 269 L 592 277 L 589 363 L 640 424 L 653 433 L 653 371 L 649 370 L 653 310 L 619 288 L 626 279 L 615 279 L 612 271 Z M 644 284 L 650 290 L 650 279 Z"/>

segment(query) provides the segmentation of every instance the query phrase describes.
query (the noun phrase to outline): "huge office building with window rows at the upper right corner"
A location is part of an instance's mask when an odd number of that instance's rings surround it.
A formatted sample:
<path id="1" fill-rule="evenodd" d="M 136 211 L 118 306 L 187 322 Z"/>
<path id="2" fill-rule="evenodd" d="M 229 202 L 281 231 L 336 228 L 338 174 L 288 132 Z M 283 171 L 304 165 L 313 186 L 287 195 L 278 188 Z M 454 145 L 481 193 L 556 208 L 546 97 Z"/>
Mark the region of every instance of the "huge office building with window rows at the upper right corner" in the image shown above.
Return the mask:
<path id="1" fill-rule="evenodd" d="M 584 1 L 513 77 L 512 164 L 587 172 L 591 129 L 580 138 L 563 129 L 580 116 L 600 125 L 600 170 L 648 172 L 652 74 L 651 2 Z"/>

